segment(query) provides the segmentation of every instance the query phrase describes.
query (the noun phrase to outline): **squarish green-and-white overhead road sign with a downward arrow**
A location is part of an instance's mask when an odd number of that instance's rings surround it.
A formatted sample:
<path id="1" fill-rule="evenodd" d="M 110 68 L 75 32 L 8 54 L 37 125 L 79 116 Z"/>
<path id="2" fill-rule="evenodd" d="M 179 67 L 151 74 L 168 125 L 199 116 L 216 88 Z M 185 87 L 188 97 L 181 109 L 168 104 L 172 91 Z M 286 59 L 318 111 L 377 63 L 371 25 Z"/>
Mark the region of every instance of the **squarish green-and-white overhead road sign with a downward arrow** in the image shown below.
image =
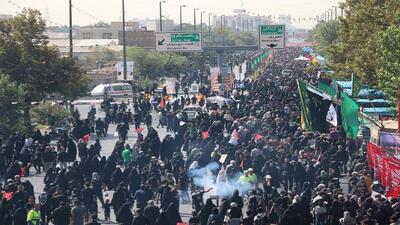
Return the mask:
<path id="1" fill-rule="evenodd" d="M 285 33 L 285 25 L 260 25 L 258 38 L 259 48 L 285 48 Z"/>

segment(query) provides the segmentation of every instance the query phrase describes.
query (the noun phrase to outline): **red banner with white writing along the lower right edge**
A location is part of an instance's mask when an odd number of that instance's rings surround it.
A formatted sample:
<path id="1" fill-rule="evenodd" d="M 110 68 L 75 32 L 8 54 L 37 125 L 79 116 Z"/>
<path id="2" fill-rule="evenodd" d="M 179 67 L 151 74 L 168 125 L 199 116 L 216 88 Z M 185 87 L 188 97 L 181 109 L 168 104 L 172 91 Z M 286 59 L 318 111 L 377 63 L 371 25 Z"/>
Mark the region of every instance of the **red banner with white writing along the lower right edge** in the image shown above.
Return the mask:
<path id="1" fill-rule="evenodd" d="M 400 160 L 387 154 L 379 146 L 368 143 L 368 166 L 374 169 L 374 177 L 387 187 L 387 197 L 400 194 Z"/>

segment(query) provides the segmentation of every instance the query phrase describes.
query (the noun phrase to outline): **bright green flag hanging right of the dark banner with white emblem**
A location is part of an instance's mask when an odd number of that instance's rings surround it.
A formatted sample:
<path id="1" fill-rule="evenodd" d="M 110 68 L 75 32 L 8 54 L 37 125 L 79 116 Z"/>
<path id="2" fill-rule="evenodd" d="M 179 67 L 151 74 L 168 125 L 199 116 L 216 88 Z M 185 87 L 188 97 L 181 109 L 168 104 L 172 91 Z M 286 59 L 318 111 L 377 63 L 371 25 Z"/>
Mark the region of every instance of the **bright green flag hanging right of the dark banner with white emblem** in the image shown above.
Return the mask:
<path id="1" fill-rule="evenodd" d="M 347 137 L 356 139 L 360 122 L 358 121 L 358 110 L 359 106 L 356 101 L 351 97 L 341 92 L 341 115 L 342 115 L 342 126 L 347 134 Z"/>

